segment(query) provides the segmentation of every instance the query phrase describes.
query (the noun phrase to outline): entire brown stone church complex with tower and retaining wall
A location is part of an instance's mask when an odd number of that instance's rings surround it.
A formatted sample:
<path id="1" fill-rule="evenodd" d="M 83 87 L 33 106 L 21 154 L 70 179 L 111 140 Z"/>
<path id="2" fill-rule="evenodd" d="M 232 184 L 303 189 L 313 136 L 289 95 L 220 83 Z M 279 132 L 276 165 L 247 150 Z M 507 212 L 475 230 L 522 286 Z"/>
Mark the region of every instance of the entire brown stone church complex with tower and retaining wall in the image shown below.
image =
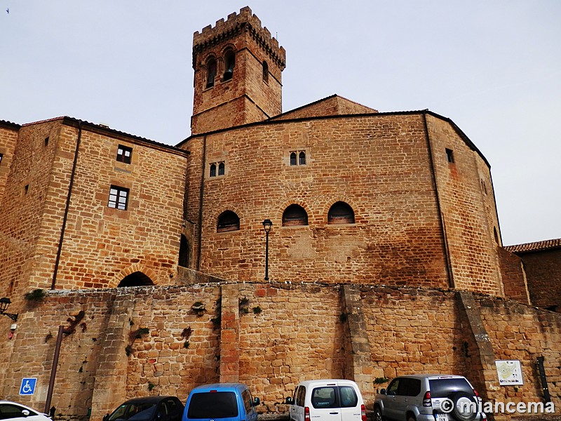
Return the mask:
<path id="1" fill-rule="evenodd" d="M 193 68 L 175 147 L 0 121 L 1 396 L 88 420 L 240 381 L 283 413 L 299 381 L 346 377 L 372 409 L 396 375 L 454 373 L 561 406 L 561 243 L 503 247 L 452 120 L 339 95 L 283 112 L 285 50 L 247 7 L 195 32 Z"/>

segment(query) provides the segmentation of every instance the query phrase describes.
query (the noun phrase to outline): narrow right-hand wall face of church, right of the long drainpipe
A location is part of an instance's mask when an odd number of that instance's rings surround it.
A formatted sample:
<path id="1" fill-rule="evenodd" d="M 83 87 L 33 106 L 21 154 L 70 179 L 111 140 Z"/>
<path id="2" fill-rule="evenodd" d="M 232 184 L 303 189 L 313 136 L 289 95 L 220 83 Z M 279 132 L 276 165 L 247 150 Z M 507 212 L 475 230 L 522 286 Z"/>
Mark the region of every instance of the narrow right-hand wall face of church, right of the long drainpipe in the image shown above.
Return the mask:
<path id="1" fill-rule="evenodd" d="M 453 123 L 431 114 L 426 114 L 426 122 L 452 285 L 503 296 L 498 239 L 495 242 L 499 225 L 489 168 Z"/>

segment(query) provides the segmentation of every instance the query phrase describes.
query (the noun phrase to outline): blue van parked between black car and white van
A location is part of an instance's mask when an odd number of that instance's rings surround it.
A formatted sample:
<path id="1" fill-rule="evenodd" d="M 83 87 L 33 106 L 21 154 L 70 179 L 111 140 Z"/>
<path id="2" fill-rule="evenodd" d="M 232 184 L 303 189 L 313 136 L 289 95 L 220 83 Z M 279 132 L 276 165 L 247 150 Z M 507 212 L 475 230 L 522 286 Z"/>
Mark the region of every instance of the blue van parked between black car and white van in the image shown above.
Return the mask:
<path id="1" fill-rule="evenodd" d="M 182 421 L 257 421 L 259 398 L 243 383 L 214 383 L 189 393 Z"/>

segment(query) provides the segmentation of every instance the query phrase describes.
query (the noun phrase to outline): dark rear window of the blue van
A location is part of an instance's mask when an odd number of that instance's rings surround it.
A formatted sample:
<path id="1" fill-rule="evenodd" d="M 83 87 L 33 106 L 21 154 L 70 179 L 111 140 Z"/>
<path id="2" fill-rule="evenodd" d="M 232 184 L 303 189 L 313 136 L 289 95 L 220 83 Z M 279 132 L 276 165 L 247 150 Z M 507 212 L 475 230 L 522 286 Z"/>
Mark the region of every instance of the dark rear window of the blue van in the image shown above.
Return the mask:
<path id="1" fill-rule="evenodd" d="M 188 418 L 231 418 L 238 416 L 234 392 L 202 392 L 191 396 Z"/>

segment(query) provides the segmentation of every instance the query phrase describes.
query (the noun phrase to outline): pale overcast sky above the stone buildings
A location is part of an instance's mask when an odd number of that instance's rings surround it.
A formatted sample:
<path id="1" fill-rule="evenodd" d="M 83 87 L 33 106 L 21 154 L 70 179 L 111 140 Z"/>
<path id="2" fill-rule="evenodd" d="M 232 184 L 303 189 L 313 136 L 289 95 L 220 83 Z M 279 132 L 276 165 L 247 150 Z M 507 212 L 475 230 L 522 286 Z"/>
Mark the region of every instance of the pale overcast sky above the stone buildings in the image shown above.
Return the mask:
<path id="1" fill-rule="evenodd" d="M 286 50 L 283 111 L 337 93 L 449 117 L 491 164 L 503 243 L 561 238 L 559 0 L 0 6 L 1 120 L 72 116 L 176 145 L 190 135 L 193 33 L 250 6 Z"/>

